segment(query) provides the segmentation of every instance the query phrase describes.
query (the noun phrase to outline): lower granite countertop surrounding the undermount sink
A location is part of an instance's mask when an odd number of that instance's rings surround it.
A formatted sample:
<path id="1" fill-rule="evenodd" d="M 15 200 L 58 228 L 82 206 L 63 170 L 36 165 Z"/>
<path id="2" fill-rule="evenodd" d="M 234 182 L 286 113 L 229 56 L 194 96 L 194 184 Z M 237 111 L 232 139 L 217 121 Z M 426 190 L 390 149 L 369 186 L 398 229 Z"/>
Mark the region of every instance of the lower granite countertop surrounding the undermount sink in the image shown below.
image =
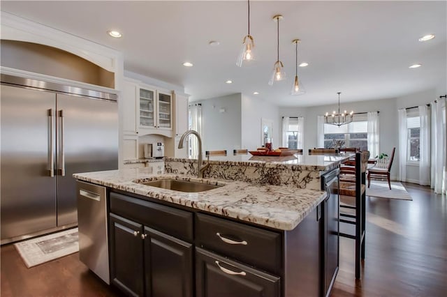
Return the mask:
<path id="1" fill-rule="evenodd" d="M 326 195 L 321 190 L 279 185 L 256 185 L 242 181 L 200 179 L 181 174 L 154 174 L 151 168 L 87 172 L 73 174 L 73 177 L 80 181 L 96 183 L 280 230 L 294 229 L 325 199 Z M 221 185 L 221 188 L 189 193 L 134 182 L 166 178 Z"/>

